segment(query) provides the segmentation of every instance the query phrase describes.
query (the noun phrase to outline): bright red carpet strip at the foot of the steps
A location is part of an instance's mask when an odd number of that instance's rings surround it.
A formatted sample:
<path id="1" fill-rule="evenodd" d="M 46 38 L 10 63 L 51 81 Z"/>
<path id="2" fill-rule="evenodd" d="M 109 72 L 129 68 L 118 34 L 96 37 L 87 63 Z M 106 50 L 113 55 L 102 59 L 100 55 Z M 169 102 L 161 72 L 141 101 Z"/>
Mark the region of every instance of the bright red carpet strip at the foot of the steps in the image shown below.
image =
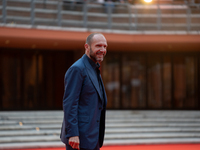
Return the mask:
<path id="1" fill-rule="evenodd" d="M 19 150 L 19 149 L 15 149 Z M 22 150 L 65 150 L 65 148 L 38 148 Z M 103 146 L 101 150 L 200 150 L 199 144 L 168 144 L 168 145 L 123 145 Z"/>

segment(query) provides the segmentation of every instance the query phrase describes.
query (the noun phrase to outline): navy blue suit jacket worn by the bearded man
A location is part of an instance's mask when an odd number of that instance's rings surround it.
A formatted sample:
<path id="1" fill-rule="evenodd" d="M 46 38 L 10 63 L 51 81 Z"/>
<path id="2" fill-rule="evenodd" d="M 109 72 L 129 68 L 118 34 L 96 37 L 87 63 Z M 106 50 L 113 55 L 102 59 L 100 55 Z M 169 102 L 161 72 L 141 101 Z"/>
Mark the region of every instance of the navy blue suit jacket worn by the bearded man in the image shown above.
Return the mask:
<path id="1" fill-rule="evenodd" d="M 98 141 L 103 145 L 107 98 L 87 57 L 84 54 L 65 74 L 61 140 L 68 144 L 69 137 L 79 136 L 80 148 L 94 149 Z"/>

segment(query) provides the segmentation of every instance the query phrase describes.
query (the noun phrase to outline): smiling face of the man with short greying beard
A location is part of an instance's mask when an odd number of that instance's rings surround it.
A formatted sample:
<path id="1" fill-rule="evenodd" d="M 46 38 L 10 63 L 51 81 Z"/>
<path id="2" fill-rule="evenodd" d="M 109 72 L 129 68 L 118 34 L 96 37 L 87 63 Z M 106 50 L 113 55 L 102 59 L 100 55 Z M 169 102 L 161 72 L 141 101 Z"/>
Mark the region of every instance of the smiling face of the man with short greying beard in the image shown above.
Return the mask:
<path id="1" fill-rule="evenodd" d="M 91 45 L 86 44 L 85 48 L 88 57 L 90 57 L 95 63 L 101 62 L 106 55 L 107 41 L 103 35 L 96 34 L 92 38 Z"/>

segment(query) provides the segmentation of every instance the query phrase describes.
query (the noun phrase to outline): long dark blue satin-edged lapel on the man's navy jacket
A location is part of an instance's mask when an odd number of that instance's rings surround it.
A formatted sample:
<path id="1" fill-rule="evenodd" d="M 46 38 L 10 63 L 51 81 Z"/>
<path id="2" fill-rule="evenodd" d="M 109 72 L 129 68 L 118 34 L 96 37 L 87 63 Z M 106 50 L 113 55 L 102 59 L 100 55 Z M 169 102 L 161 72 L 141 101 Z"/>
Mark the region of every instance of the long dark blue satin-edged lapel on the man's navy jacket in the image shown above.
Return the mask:
<path id="1" fill-rule="evenodd" d="M 90 80 L 92 81 L 92 84 L 94 85 L 95 89 L 97 90 L 101 100 L 103 100 L 101 92 L 100 92 L 100 87 L 99 87 L 97 75 L 95 73 L 95 70 L 92 68 L 92 66 L 90 65 L 90 63 L 88 62 L 86 57 L 87 57 L 86 55 L 83 55 L 83 62 L 85 64 L 86 71 L 88 73 Z"/>

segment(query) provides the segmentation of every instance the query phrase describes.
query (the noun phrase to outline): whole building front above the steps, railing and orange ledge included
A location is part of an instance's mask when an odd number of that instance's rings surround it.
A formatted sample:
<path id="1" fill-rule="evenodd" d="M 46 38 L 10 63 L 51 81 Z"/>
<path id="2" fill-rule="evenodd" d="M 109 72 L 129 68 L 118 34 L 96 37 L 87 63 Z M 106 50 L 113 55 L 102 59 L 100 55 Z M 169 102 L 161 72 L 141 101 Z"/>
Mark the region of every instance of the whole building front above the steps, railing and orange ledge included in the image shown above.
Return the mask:
<path id="1" fill-rule="evenodd" d="M 0 1 L 0 110 L 62 109 L 64 74 L 101 32 L 108 109 L 200 110 L 198 1 Z"/>

